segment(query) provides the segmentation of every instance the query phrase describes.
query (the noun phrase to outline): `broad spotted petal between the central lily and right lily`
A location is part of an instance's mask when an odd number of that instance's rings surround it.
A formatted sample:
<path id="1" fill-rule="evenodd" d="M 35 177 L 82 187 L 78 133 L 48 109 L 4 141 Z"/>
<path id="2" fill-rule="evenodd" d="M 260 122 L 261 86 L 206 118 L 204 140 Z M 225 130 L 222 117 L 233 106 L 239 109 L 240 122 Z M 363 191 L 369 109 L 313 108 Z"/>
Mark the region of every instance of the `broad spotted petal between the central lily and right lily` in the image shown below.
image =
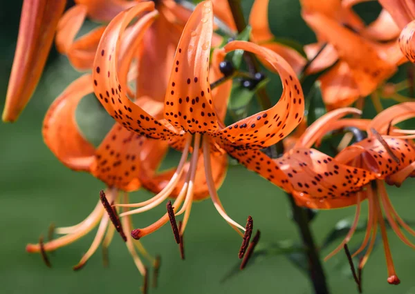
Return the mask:
<path id="1" fill-rule="evenodd" d="M 330 209 L 356 204 L 356 192 L 374 179 L 361 168 L 353 168 L 308 148 L 295 148 L 275 159 L 288 175 L 297 204 L 308 208 Z"/>

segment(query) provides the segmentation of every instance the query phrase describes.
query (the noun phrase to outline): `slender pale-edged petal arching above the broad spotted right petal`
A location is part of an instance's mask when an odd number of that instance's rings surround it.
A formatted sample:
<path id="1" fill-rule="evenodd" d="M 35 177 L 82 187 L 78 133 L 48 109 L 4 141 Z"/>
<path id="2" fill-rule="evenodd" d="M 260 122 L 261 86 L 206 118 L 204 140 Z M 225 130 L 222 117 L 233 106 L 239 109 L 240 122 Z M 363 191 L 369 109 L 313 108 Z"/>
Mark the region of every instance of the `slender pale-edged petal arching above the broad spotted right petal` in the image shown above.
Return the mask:
<path id="1" fill-rule="evenodd" d="M 304 134 L 299 137 L 297 144 L 295 144 L 295 148 L 310 148 L 319 137 L 322 137 L 329 132 L 331 124 L 338 121 L 338 119 L 351 114 L 361 115 L 362 111 L 357 108 L 340 108 L 338 110 L 327 112 L 306 129 Z"/>

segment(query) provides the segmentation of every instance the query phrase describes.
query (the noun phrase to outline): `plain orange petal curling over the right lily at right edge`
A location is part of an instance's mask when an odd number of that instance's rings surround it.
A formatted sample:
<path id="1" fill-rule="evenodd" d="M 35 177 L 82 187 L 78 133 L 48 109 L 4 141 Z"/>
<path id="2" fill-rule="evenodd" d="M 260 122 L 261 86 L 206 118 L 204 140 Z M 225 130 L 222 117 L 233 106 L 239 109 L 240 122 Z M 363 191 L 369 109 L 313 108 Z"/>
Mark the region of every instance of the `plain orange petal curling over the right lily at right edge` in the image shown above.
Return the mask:
<path id="1" fill-rule="evenodd" d="M 415 102 L 404 102 L 391 106 L 380 112 L 367 126 L 367 133 L 371 135 L 371 128 L 374 128 L 381 135 L 386 135 L 389 125 L 395 125 L 415 117 Z"/>

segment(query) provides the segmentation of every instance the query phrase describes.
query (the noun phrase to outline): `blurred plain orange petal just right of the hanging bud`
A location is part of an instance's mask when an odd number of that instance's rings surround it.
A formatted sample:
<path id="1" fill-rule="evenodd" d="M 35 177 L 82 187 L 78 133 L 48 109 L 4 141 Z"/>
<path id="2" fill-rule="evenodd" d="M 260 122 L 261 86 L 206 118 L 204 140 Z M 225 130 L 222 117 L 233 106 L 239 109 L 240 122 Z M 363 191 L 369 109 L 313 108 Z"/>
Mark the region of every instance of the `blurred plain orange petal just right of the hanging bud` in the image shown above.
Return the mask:
<path id="1" fill-rule="evenodd" d="M 59 53 L 66 54 L 71 48 L 84 23 L 87 10 L 86 6 L 75 5 L 67 10 L 57 23 L 55 44 Z"/>

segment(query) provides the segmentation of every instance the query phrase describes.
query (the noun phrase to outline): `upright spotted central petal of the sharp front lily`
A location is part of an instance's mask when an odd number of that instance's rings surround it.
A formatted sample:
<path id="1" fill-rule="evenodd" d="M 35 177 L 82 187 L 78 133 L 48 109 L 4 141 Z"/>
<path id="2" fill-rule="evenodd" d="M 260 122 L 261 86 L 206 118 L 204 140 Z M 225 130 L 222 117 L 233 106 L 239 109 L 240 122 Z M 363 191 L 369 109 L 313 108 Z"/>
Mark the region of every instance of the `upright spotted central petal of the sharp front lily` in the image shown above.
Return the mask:
<path id="1" fill-rule="evenodd" d="M 218 128 L 209 82 L 212 3 L 196 6 L 178 43 L 165 97 L 165 119 L 191 132 Z"/>

